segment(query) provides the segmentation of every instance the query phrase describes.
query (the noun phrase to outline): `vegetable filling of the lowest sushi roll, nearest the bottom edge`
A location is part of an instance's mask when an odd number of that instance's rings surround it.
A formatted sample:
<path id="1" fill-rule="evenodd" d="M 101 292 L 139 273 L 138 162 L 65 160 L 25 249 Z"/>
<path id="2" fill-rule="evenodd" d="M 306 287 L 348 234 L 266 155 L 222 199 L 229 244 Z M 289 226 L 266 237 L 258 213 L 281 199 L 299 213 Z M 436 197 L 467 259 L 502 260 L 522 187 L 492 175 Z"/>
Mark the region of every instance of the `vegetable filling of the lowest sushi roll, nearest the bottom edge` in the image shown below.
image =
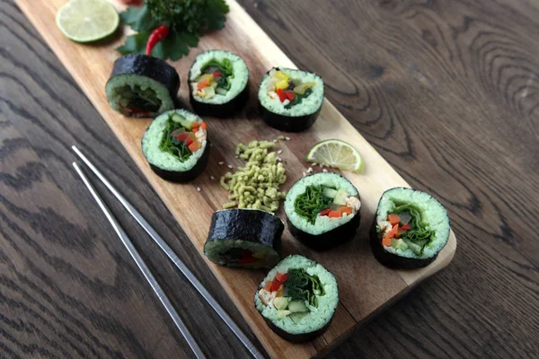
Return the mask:
<path id="1" fill-rule="evenodd" d="M 261 302 L 277 311 L 278 320 L 289 317 L 295 323 L 318 308 L 318 297 L 323 295 L 325 292 L 319 277 L 309 275 L 304 268 L 277 272 L 258 292 Z"/>

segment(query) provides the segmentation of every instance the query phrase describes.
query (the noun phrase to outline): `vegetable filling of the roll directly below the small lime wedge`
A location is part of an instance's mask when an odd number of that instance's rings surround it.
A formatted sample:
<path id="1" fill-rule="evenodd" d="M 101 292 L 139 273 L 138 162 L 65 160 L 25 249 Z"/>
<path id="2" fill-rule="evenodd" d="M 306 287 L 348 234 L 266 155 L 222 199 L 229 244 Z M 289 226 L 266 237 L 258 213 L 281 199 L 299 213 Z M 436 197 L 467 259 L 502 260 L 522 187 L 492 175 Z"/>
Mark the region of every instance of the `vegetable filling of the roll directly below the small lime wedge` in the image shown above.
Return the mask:
<path id="1" fill-rule="evenodd" d="M 294 201 L 296 214 L 311 224 L 322 216 L 342 218 L 355 215 L 360 206 L 359 198 L 350 196 L 345 189 L 323 185 L 305 187 L 305 192 L 299 194 Z"/>

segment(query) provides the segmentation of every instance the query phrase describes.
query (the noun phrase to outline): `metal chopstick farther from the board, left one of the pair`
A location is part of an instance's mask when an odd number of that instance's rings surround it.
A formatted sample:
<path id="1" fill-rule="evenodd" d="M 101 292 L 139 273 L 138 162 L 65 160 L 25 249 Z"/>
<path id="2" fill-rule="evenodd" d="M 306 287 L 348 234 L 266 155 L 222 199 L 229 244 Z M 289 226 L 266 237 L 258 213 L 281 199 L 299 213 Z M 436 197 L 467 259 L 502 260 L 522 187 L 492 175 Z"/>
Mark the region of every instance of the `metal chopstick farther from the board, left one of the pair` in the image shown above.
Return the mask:
<path id="1" fill-rule="evenodd" d="M 107 219 L 112 225 L 112 228 L 114 228 L 114 231 L 116 232 L 116 234 L 118 234 L 119 239 L 128 249 L 128 252 L 131 255 L 131 257 L 135 259 L 135 262 L 137 263 L 138 268 L 140 269 L 140 271 L 146 278 L 146 281 L 154 290 L 155 295 L 157 295 L 157 298 L 159 298 L 159 301 L 163 303 L 164 309 L 171 316 L 172 320 L 174 321 L 174 324 L 176 324 L 176 327 L 178 327 L 178 329 L 180 330 L 181 335 L 185 338 L 185 340 L 187 341 L 187 344 L 190 346 L 193 353 L 197 356 L 197 358 L 205 359 L 206 356 L 204 355 L 204 353 L 202 353 L 202 350 L 197 344 L 195 338 L 191 336 L 189 329 L 185 326 L 183 321 L 181 321 L 180 316 L 178 315 L 174 307 L 172 307 L 172 303 L 169 301 L 166 294 L 163 293 L 163 289 L 161 289 L 161 286 L 155 280 L 155 276 L 152 275 L 152 272 L 146 266 L 146 263 L 138 254 L 137 250 L 133 246 L 133 243 L 129 240 L 128 234 L 123 230 L 123 228 L 121 228 L 121 226 L 116 221 L 116 219 L 110 214 L 109 208 L 104 204 L 104 202 L 102 201 L 102 198 L 97 194 L 97 192 L 95 191 L 95 188 L 93 188 L 92 184 L 86 178 L 86 176 L 84 175 L 84 172 L 80 169 L 80 167 L 76 164 L 76 162 L 73 162 L 73 167 L 75 167 L 75 171 L 84 181 L 84 184 L 90 190 L 90 193 L 92 193 L 93 199 L 95 199 L 97 204 L 100 206 L 100 208 L 102 209 L 102 212 L 107 216 Z"/>

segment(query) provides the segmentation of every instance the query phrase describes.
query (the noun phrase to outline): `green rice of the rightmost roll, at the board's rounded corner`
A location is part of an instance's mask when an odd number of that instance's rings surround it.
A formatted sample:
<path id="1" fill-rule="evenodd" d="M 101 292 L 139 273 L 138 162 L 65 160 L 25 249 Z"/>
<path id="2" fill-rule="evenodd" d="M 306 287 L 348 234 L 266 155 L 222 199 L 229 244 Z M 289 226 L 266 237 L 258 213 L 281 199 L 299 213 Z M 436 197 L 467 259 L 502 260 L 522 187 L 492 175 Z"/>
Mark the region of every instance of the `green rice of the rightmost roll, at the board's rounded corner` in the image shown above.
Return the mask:
<path id="1" fill-rule="evenodd" d="M 384 222 L 387 215 L 394 213 L 397 206 L 411 205 L 420 214 L 420 222 L 423 230 L 431 233 L 430 241 L 418 255 L 407 248 L 402 250 L 393 246 L 385 247 L 384 250 L 405 258 L 432 258 L 444 248 L 449 239 L 449 217 L 446 208 L 435 197 L 428 193 L 411 188 L 392 188 L 384 192 L 376 211 L 376 222 Z M 381 229 L 376 225 L 376 232 L 382 238 Z"/>

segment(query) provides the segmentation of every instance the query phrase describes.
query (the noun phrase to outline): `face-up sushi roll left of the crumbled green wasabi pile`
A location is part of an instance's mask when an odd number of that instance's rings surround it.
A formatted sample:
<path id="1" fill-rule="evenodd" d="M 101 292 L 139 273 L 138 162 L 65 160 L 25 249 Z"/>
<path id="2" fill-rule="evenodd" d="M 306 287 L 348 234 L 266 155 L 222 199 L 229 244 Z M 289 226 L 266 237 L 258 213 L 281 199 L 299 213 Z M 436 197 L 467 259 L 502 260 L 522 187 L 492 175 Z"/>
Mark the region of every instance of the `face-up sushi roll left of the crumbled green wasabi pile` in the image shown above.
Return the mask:
<path id="1" fill-rule="evenodd" d="M 201 118 L 185 109 L 164 112 L 142 136 L 142 153 L 163 180 L 194 180 L 208 164 L 207 128 Z"/>

